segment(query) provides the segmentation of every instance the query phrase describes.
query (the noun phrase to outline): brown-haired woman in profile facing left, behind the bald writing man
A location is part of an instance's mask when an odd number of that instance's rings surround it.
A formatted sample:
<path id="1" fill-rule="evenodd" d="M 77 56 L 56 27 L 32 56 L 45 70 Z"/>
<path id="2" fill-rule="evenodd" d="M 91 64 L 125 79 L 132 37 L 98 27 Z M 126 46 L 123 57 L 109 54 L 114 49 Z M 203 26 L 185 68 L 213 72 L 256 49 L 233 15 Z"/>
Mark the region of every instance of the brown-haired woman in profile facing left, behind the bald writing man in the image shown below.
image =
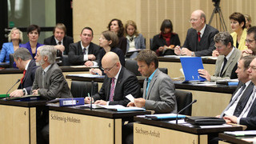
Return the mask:
<path id="1" fill-rule="evenodd" d="M 102 67 L 102 58 L 107 52 L 114 52 L 118 54 L 119 60 L 121 62 L 122 66 L 125 66 L 125 56 L 122 54 L 122 50 L 120 50 L 118 46 L 118 36 L 117 34 L 114 34 L 113 31 L 103 31 L 101 37 L 99 38 L 99 46 L 102 47 L 102 49 L 99 51 L 99 62 L 98 67 Z M 103 70 L 100 69 L 90 69 L 91 74 L 103 74 Z"/>

